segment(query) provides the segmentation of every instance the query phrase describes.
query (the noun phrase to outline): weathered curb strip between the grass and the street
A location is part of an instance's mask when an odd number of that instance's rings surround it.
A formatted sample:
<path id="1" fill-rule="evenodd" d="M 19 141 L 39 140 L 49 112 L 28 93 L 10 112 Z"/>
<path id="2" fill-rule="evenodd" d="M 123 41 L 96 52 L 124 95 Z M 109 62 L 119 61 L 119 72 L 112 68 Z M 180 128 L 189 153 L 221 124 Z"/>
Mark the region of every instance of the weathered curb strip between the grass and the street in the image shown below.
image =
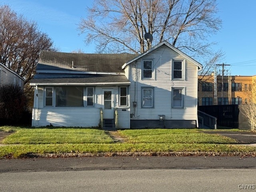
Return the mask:
<path id="1" fill-rule="evenodd" d="M 136 157 L 136 156 L 252 156 L 256 152 L 99 152 L 99 153 L 50 153 L 26 154 L 28 158 L 67 158 L 67 157 Z"/>

